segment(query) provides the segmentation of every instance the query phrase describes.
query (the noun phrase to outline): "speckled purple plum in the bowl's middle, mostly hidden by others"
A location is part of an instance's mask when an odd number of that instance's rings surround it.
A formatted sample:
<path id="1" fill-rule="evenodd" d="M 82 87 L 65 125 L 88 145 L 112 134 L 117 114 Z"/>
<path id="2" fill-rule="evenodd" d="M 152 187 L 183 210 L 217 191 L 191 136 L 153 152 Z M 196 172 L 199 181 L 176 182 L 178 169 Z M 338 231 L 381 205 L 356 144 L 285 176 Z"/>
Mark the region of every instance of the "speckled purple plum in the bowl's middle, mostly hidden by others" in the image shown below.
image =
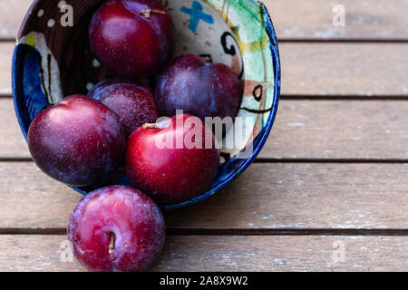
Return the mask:
<path id="1" fill-rule="evenodd" d="M 145 123 L 157 121 L 159 111 L 153 93 L 145 85 L 126 80 L 106 80 L 98 83 L 88 95 L 114 111 L 129 137 Z"/>

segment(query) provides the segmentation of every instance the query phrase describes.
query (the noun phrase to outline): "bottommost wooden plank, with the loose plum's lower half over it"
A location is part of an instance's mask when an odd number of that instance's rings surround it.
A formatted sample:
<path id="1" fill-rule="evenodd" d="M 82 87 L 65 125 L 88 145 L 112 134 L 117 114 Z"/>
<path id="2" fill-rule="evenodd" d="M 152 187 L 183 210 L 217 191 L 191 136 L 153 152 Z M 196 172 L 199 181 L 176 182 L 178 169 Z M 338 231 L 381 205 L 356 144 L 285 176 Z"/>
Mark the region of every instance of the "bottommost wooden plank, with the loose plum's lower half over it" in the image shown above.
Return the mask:
<path id="1" fill-rule="evenodd" d="M 66 242 L 0 236 L 0 271 L 84 271 Z M 407 249 L 408 237 L 168 237 L 151 271 L 407 271 Z"/>

